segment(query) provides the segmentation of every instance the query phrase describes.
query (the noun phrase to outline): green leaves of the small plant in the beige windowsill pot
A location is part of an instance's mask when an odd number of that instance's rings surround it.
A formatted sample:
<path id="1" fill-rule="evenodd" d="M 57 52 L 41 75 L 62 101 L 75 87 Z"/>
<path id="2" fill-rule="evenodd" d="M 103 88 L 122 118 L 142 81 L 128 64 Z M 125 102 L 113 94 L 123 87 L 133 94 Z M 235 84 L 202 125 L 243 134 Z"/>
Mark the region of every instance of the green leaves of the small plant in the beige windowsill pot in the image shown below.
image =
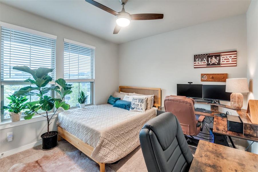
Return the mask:
<path id="1" fill-rule="evenodd" d="M 16 92 L 15 92 L 16 93 Z M 14 94 L 15 94 L 14 93 Z M 22 110 L 26 109 L 26 101 L 28 100 L 26 96 L 16 96 L 16 95 L 9 95 L 10 97 L 6 97 L 7 99 L 11 100 L 9 105 L 3 106 L 1 110 L 9 109 L 9 112 L 14 112 L 15 114 L 18 114 Z"/>

